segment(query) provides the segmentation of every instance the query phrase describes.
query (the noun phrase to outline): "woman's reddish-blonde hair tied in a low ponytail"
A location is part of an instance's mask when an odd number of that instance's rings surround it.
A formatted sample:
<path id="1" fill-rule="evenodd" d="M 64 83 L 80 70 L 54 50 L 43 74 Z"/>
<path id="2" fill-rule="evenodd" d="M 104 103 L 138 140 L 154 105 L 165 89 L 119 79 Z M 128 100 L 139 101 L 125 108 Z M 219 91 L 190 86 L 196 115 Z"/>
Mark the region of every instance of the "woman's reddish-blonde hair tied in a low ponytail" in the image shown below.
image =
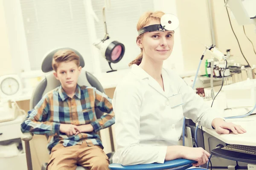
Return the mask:
<path id="1" fill-rule="evenodd" d="M 137 23 L 137 31 L 139 31 L 141 28 L 145 27 L 148 22 L 150 22 L 151 20 L 158 20 L 160 21 L 161 20 L 161 17 L 164 15 L 165 13 L 162 12 L 162 11 L 155 11 L 155 12 L 151 12 L 151 11 L 148 11 L 148 12 L 145 12 L 142 16 L 140 16 L 140 19 Z M 142 38 L 143 34 L 140 34 L 138 37 L 137 37 L 137 40 L 140 40 Z M 142 61 L 142 58 L 143 58 L 143 49 L 140 48 L 140 54 L 132 61 L 129 63 L 129 66 L 133 65 L 133 64 L 137 64 L 137 65 L 140 65 L 141 61 Z"/>

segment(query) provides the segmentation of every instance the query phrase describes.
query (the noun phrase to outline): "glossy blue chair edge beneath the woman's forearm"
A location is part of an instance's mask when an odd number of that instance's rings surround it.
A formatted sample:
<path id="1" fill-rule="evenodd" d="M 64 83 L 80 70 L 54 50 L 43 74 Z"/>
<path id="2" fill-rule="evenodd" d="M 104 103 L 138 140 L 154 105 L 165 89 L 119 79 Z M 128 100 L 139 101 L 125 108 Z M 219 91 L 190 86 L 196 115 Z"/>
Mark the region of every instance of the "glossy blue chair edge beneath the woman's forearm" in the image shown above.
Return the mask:
<path id="1" fill-rule="evenodd" d="M 172 161 L 165 161 L 163 164 L 153 163 L 153 164 L 137 164 L 137 165 L 127 165 L 122 166 L 121 164 L 110 164 L 108 167 L 111 170 L 186 170 L 192 167 L 192 164 L 196 161 L 188 159 L 175 159 Z"/>

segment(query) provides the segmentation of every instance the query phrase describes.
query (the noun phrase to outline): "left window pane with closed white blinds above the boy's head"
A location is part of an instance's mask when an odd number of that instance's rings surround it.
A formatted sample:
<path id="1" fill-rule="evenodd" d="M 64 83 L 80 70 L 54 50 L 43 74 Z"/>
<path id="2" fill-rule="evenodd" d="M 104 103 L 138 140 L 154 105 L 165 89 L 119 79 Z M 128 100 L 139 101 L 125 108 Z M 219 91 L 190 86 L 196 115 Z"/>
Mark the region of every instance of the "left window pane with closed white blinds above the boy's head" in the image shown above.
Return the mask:
<path id="1" fill-rule="evenodd" d="M 74 48 L 93 71 L 87 15 L 83 0 L 20 0 L 31 70 L 40 70 L 45 54 Z M 38 62 L 40 61 L 40 62 Z"/>

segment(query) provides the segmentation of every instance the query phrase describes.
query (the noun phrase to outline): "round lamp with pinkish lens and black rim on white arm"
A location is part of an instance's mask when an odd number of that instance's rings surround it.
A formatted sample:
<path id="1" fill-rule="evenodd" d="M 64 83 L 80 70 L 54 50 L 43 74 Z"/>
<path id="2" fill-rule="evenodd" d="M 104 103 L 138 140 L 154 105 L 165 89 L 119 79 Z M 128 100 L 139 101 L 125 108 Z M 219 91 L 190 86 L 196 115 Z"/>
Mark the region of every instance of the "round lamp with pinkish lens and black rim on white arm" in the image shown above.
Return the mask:
<path id="1" fill-rule="evenodd" d="M 107 73 L 109 73 L 116 71 L 112 69 L 111 63 L 117 63 L 122 59 L 125 54 L 125 45 L 118 41 L 110 40 L 105 18 L 105 7 L 103 7 L 103 22 L 105 25 L 105 37 L 103 40 L 99 40 L 99 42 L 93 43 L 93 45 L 95 45 L 96 48 L 99 48 L 102 56 L 108 61 L 108 65 L 111 68 L 111 71 L 107 71 Z"/>

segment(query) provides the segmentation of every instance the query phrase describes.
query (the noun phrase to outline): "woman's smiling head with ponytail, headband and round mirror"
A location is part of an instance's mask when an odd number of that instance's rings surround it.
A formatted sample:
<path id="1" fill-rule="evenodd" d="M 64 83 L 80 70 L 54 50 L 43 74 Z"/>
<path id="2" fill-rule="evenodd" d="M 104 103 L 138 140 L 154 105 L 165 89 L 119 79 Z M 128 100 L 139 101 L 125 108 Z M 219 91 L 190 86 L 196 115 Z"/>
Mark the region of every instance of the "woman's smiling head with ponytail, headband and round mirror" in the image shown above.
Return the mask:
<path id="1" fill-rule="evenodd" d="M 139 34 L 137 37 L 137 45 L 140 47 L 141 53 L 129 66 L 132 64 L 140 65 L 143 60 L 143 53 L 145 53 L 144 55 L 147 57 L 155 56 L 155 54 L 158 53 L 161 57 L 158 56 L 156 59 L 162 59 L 162 61 L 169 58 L 174 44 L 173 30 L 175 30 L 178 25 L 177 17 L 173 14 L 164 14 L 161 11 L 154 12 L 154 14 L 149 12 L 145 13 L 143 17 L 140 18 L 137 25 Z M 155 61 L 157 62 L 157 60 Z"/>

